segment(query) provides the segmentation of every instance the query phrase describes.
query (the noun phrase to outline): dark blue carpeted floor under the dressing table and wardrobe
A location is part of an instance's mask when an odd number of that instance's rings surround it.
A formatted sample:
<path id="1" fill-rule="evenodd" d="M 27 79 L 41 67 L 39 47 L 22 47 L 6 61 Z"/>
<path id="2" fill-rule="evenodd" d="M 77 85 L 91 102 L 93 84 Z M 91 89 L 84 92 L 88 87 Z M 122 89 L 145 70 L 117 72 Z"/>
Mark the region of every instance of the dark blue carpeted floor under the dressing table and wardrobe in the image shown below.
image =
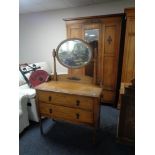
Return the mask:
<path id="1" fill-rule="evenodd" d="M 45 119 L 42 136 L 39 124 L 31 123 L 20 135 L 19 155 L 134 155 L 133 146 L 116 142 L 118 116 L 118 110 L 101 107 L 96 145 L 92 143 L 93 130 L 88 127 Z"/>

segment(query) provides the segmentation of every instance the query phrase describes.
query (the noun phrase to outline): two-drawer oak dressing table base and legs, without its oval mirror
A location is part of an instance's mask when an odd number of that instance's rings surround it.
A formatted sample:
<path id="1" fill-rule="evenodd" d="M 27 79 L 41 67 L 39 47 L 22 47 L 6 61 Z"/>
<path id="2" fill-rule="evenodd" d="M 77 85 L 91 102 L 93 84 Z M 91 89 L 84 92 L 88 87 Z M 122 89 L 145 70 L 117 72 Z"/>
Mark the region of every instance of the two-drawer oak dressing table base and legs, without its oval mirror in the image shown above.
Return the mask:
<path id="1" fill-rule="evenodd" d="M 56 70 L 54 73 L 54 80 L 35 87 L 41 134 L 42 116 L 87 125 L 96 131 L 100 120 L 102 88 L 94 83 L 93 78 L 92 81 L 86 80 L 86 77 L 73 80 L 68 76 L 57 76 Z"/>

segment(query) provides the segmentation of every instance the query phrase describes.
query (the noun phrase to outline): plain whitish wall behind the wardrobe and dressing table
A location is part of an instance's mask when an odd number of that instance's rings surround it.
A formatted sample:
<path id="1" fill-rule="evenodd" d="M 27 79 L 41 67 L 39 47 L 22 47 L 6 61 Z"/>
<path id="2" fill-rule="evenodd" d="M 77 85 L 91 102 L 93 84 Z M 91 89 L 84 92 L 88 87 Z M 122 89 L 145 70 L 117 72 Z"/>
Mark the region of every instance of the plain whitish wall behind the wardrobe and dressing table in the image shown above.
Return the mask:
<path id="1" fill-rule="evenodd" d="M 20 14 L 19 16 L 19 63 L 47 61 L 53 70 L 52 50 L 66 39 L 63 18 L 123 13 L 133 7 L 134 0 L 121 0 L 99 5 Z M 57 63 L 57 71 L 67 69 Z"/>

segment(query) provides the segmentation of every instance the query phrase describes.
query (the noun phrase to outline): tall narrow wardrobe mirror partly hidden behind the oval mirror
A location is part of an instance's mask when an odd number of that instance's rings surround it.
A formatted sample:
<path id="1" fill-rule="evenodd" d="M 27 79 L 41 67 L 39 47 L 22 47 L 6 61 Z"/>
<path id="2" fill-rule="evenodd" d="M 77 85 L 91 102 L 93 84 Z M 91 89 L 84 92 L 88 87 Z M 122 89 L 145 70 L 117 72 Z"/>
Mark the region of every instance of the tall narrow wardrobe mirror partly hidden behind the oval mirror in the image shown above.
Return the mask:
<path id="1" fill-rule="evenodd" d="M 92 48 L 92 57 L 97 59 L 97 52 L 98 52 L 98 41 L 99 41 L 99 29 L 88 29 L 85 30 L 85 41 L 89 43 Z M 91 61 L 89 65 L 85 68 L 85 75 L 94 76 L 94 62 Z"/>

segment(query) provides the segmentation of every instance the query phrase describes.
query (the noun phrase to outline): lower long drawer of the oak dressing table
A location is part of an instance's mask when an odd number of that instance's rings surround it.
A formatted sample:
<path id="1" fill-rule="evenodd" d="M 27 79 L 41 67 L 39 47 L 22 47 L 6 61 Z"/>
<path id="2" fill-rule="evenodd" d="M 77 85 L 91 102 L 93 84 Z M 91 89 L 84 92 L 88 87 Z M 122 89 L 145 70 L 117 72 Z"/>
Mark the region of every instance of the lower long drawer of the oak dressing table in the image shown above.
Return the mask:
<path id="1" fill-rule="evenodd" d="M 68 108 L 47 103 L 39 103 L 41 115 L 51 116 L 62 120 L 71 120 L 83 123 L 93 123 L 93 113 L 81 109 Z"/>

